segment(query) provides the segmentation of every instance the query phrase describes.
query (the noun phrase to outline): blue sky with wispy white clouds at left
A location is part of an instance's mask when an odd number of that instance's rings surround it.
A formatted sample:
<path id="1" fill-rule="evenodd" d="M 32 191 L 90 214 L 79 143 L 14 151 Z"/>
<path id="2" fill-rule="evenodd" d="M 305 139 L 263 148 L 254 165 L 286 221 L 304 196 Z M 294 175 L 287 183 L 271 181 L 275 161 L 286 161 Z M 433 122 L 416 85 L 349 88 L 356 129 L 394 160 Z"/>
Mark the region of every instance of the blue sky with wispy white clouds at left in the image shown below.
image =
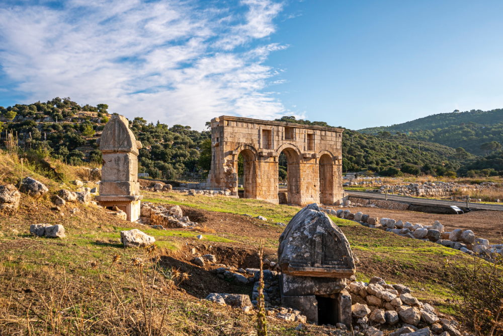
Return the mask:
<path id="1" fill-rule="evenodd" d="M 503 2 L 4 1 L 0 105 L 71 97 L 203 129 L 359 129 L 503 107 Z"/>

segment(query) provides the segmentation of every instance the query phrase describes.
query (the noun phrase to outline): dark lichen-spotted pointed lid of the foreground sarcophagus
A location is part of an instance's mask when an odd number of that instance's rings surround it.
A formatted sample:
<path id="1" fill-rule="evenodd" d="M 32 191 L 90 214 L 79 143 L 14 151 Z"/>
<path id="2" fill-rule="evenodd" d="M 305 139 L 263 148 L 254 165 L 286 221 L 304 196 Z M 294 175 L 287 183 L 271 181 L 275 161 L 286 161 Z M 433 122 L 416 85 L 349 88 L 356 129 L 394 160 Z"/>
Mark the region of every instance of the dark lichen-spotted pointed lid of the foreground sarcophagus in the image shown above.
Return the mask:
<path id="1" fill-rule="evenodd" d="M 278 261 L 285 274 L 350 278 L 355 257 L 348 239 L 316 204 L 299 211 L 280 236 Z"/>

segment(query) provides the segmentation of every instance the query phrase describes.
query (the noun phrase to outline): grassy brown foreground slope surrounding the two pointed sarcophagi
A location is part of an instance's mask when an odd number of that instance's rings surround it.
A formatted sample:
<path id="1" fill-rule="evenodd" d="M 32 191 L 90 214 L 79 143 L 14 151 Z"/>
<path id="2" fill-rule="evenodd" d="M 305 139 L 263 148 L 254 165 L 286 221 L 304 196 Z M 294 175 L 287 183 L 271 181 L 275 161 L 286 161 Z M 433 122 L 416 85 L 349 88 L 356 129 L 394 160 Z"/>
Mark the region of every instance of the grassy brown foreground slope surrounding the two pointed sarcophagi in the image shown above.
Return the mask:
<path id="1" fill-rule="evenodd" d="M 235 267 L 233 270 L 257 267 L 260 242 L 265 242 L 266 257 L 276 261 L 284 227 L 275 223 L 287 223 L 300 208 L 253 199 L 142 191 L 143 201 L 180 205 L 184 214 L 202 224 L 194 229 L 155 230 L 123 221 L 92 204 L 54 207 L 51 195 L 61 187 L 74 189 L 70 181 L 82 178 L 79 171 L 85 169 L 49 161 L 58 167 L 60 179 L 50 178 L 51 171 L 43 166 L 31 161 L 22 164 L 16 155 L 0 152 L 0 185 L 17 184 L 21 176 L 30 175 L 49 187 L 40 198 L 22 194 L 18 213 L 0 217 L 2 332 L 216 335 L 249 334 L 255 329 L 255 311 L 246 313 L 204 298 L 215 291 L 251 293 L 253 285 L 221 279 L 216 268 L 221 264 Z M 245 213 L 266 216 L 268 221 L 243 216 Z M 473 219 L 477 216 L 473 214 Z M 413 290 L 414 297 L 439 312 L 462 317 L 452 301 L 453 278 L 446 270 L 446 260 L 461 267 L 473 262 L 470 256 L 432 242 L 331 218 L 360 260 L 358 280 L 379 276 L 404 284 Z M 424 223 L 432 221 L 425 217 Z M 36 223 L 62 224 L 66 237 L 30 235 L 29 226 Z M 119 231 L 132 228 L 154 236 L 155 249 L 124 248 Z M 196 238 L 199 234 L 203 239 Z M 197 266 L 194 253 L 214 254 L 218 264 Z M 297 334 L 299 321 L 268 317 L 267 324 L 270 334 Z M 302 330 L 300 334 L 305 335 L 333 334 L 333 327 L 306 323 Z"/>

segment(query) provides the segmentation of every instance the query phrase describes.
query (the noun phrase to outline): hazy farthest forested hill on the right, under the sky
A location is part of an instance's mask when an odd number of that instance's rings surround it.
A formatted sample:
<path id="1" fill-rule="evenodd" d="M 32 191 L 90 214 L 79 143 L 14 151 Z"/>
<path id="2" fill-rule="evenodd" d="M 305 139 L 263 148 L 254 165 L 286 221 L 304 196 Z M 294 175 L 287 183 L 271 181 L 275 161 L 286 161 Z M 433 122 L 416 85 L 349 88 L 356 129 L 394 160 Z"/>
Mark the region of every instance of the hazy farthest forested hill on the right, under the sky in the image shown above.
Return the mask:
<path id="1" fill-rule="evenodd" d="M 360 131 L 374 135 L 380 132 L 406 133 L 413 139 L 461 147 L 475 155 L 488 155 L 503 144 L 503 109 L 440 113 Z"/>

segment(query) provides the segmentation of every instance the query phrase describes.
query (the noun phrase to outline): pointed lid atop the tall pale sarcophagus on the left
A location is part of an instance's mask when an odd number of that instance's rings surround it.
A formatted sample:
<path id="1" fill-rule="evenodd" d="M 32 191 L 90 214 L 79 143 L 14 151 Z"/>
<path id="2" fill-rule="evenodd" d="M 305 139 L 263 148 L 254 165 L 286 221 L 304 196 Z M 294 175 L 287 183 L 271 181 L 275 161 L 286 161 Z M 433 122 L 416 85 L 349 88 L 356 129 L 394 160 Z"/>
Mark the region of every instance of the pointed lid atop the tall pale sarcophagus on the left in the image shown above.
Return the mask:
<path id="1" fill-rule="evenodd" d="M 125 116 L 114 114 L 103 128 L 100 138 L 100 150 L 103 152 L 131 152 L 138 155 L 141 143 L 136 141 L 129 129 Z"/>

